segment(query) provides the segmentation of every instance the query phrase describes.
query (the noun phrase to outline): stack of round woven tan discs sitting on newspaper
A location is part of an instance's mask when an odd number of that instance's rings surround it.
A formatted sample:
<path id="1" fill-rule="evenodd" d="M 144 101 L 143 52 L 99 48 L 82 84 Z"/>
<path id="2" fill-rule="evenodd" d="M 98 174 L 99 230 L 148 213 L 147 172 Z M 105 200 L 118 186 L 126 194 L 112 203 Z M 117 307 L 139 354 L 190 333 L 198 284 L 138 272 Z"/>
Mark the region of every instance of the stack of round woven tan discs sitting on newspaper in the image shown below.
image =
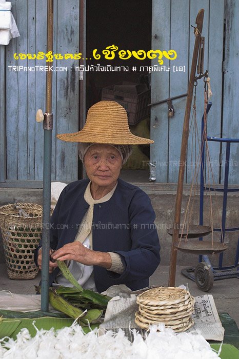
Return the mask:
<path id="1" fill-rule="evenodd" d="M 143 329 L 164 323 L 175 331 L 184 331 L 193 325 L 191 314 L 195 300 L 185 289 L 151 288 L 138 295 L 136 302 L 135 323 Z"/>

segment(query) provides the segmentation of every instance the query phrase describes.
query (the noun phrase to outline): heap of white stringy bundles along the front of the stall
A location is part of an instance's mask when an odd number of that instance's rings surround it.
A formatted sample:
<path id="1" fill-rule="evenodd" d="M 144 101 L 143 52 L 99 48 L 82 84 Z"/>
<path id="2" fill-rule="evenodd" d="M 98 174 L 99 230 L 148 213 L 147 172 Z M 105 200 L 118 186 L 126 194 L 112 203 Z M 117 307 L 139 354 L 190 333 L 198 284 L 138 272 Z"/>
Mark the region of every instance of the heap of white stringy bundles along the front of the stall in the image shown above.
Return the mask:
<path id="1" fill-rule="evenodd" d="M 160 331 L 157 331 L 160 329 Z M 37 330 L 31 337 L 22 329 L 16 341 L 11 338 L 0 340 L 0 358 L 8 359 L 215 359 L 213 351 L 204 337 L 197 332 L 175 333 L 164 325 L 152 326 L 145 340 L 135 329 L 131 343 L 122 330 L 107 331 L 99 335 L 98 330 L 85 334 L 80 326 L 54 331 Z"/>

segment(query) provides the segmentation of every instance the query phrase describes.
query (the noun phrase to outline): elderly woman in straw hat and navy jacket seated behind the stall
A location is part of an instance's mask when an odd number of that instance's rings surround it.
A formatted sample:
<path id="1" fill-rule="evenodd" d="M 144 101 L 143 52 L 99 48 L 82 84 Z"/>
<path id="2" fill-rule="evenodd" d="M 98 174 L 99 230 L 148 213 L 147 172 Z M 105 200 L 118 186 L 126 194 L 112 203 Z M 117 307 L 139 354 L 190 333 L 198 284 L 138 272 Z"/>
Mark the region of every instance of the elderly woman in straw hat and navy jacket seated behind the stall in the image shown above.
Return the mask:
<path id="1" fill-rule="evenodd" d="M 113 101 L 93 105 L 84 128 L 57 135 L 79 142 L 89 179 L 64 188 L 51 218 L 50 285 L 69 286 L 56 260 L 83 288 L 98 292 L 115 284 L 147 287 L 160 263 L 155 213 L 148 195 L 118 178 L 133 144 L 152 143 L 133 135 L 125 109 Z M 36 251 L 41 269 L 41 246 Z M 54 269 L 54 270 L 53 270 Z"/>

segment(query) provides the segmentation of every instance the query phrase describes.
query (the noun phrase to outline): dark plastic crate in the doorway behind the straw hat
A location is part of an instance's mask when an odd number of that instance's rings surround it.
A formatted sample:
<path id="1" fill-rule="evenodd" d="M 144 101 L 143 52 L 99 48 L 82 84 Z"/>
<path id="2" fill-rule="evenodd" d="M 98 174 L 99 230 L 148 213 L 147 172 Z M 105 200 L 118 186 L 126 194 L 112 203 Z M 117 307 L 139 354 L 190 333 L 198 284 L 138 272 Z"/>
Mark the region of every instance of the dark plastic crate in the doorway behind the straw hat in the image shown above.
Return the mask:
<path id="1" fill-rule="evenodd" d="M 129 125 L 136 125 L 150 114 L 150 108 L 148 106 L 150 102 L 150 90 L 136 95 L 122 91 L 114 91 L 114 85 L 111 85 L 102 90 L 101 99 L 116 101 L 122 105 L 127 112 Z"/>

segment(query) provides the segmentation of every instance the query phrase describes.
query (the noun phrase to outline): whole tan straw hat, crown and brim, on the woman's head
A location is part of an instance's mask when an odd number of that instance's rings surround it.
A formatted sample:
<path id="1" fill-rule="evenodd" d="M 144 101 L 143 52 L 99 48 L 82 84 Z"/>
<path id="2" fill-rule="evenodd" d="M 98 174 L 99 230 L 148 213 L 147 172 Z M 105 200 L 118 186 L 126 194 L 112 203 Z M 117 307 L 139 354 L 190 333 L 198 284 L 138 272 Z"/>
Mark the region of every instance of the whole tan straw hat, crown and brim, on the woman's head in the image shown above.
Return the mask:
<path id="1" fill-rule="evenodd" d="M 115 101 L 99 101 L 88 111 L 86 124 L 81 131 L 57 134 L 67 142 L 89 142 L 113 145 L 152 144 L 148 138 L 130 132 L 127 112 Z"/>

